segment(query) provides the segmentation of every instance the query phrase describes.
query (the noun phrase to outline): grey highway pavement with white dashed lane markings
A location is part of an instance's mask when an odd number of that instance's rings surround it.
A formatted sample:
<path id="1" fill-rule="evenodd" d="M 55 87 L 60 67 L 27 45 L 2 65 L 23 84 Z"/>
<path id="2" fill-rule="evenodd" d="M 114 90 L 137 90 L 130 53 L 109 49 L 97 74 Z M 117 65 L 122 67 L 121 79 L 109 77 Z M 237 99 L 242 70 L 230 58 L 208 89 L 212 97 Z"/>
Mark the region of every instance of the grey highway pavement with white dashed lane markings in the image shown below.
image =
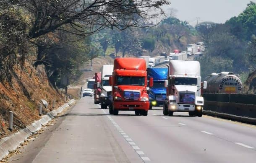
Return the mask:
<path id="1" fill-rule="evenodd" d="M 109 115 L 84 97 L 12 163 L 255 163 L 256 126 L 187 113 Z"/>

